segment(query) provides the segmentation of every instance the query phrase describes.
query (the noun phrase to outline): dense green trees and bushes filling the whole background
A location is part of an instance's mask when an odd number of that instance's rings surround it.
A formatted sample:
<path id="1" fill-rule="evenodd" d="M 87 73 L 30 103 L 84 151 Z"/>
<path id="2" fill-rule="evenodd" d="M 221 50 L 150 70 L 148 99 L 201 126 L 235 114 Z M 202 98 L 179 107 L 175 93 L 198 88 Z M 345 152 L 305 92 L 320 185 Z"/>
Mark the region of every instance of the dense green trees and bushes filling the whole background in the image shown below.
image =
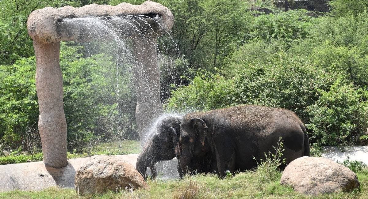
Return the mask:
<path id="1" fill-rule="evenodd" d="M 19 146 L 39 152 L 36 66 L 26 31 L 31 11 L 121 1 L 0 1 L 1 152 Z M 239 104 L 281 107 L 303 120 L 315 145 L 367 143 L 368 5 L 364 0 L 331 0 L 329 13 L 294 9 L 293 1 L 289 1 L 293 10 L 287 12 L 272 0 L 157 2 L 175 17 L 174 42 L 167 35 L 159 38 L 161 96 L 167 111 L 207 111 Z M 272 13 L 250 9 L 256 6 Z M 115 53 L 104 44 L 63 42 L 60 52 L 68 151 L 84 153 L 99 142 L 137 139 L 128 66 L 116 73 Z"/>

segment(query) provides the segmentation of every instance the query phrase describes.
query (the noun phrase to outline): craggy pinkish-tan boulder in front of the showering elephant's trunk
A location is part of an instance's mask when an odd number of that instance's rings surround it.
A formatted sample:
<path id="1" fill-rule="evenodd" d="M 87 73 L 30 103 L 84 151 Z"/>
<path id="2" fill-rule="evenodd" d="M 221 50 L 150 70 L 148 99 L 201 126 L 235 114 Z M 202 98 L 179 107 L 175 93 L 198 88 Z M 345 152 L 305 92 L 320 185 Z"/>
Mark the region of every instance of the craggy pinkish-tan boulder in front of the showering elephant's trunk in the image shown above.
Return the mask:
<path id="1" fill-rule="evenodd" d="M 75 190 L 81 195 L 137 188 L 148 185 L 134 166 L 118 156 L 92 156 L 75 173 Z"/>

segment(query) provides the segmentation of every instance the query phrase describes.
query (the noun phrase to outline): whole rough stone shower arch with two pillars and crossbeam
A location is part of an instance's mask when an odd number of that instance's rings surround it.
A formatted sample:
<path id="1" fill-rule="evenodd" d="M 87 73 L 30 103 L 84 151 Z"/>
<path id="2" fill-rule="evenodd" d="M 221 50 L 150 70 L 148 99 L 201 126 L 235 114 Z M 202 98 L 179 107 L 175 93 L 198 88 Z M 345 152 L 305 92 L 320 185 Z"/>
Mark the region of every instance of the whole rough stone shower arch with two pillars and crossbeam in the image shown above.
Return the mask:
<path id="1" fill-rule="evenodd" d="M 43 162 L 51 167 L 67 165 L 67 124 L 63 108 L 63 75 L 60 69 L 60 41 L 89 41 L 102 39 L 95 34 L 91 26 L 65 23 L 66 19 L 84 17 L 123 17 L 127 15 L 148 17 L 149 29 L 142 37 L 130 31 L 134 44 L 133 53 L 139 65 L 134 66 L 133 75 L 136 83 L 137 108 L 136 119 L 139 137 L 142 139 L 147 126 L 162 112 L 160 103 L 160 73 L 156 57 L 157 36 L 167 32 L 173 26 L 173 15 L 161 4 L 146 1 L 134 6 L 121 3 L 117 6 L 91 4 L 80 8 L 65 6 L 62 8 L 46 7 L 35 10 L 29 15 L 27 28 L 33 40 L 36 55 L 36 90 L 39 102 L 39 132 L 42 142 Z M 160 25 L 151 20 L 157 17 Z M 127 27 L 119 26 L 124 29 Z M 145 25 L 143 24 L 142 27 Z M 92 26 L 93 27 L 93 26 Z M 125 30 L 126 31 L 126 30 Z M 113 39 L 113 38 L 103 38 Z M 145 40 L 145 42 L 142 42 Z M 139 45 L 138 45 L 139 44 Z M 139 73 L 137 70 L 144 70 Z M 152 86 L 153 85 L 153 86 Z M 147 103 L 150 106 L 147 106 Z"/>

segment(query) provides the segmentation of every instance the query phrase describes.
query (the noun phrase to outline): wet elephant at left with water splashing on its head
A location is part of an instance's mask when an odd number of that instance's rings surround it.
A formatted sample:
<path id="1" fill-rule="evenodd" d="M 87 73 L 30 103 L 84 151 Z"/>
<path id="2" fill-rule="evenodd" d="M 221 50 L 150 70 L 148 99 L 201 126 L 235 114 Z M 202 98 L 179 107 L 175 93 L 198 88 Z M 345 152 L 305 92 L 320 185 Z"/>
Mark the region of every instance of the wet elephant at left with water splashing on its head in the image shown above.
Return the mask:
<path id="1" fill-rule="evenodd" d="M 151 169 L 151 176 L 155 179 L 157 175 L 155 164 L 162 160 L 171 160 L 177 154 L 175 149 L 180 135 L 182 117 L 166 115 L 161 118 L 153 127 L 152 134 L 137 158 L 136 169 L 145 180 L 147 180 L 147 167 Z"/>

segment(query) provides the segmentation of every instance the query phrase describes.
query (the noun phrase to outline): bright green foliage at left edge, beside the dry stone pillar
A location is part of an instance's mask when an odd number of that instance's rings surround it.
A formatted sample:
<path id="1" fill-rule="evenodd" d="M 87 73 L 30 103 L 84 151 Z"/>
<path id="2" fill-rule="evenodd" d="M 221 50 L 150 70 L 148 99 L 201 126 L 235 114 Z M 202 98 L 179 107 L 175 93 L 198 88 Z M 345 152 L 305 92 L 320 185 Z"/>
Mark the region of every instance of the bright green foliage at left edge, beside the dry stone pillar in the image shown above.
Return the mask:
<path id="1" fill-rule="evenodd" d="M 27 123 L 38 118 L 35 57 L 0 66 L 0 137 L 10 148 L 21 142 Z"/>

